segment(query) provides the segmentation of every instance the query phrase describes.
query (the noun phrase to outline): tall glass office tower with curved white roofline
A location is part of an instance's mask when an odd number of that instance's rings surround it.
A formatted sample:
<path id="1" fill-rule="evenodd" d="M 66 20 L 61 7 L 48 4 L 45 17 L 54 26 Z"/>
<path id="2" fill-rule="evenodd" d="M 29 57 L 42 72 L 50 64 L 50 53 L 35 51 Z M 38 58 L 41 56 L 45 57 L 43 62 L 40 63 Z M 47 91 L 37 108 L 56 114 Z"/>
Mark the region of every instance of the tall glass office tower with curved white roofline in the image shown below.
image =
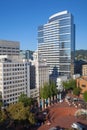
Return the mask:
<path id="1" fill-rule="evenodd" d="M 38 58 L 46 59 L 51 77 L 71 76 L 74 64 L 75 25 L 68 11 L 49 17 L 38 27 Z"/>

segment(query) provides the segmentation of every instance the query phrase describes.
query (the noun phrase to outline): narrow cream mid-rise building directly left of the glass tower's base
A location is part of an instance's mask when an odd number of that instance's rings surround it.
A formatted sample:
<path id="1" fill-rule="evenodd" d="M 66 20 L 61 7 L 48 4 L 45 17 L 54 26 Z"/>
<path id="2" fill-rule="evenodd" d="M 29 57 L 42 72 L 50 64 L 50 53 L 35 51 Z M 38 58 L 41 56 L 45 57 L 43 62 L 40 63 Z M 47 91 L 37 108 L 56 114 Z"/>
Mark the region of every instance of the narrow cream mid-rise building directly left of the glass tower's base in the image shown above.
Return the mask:
<path id="1" fill-rule="evenodd" d="M 45 83 L 49 83 L 49 66 L 45 59 L 38 59 L 38 51 L 34 53 L 34 65 L 36 68 L 36 87 L 40 88 Z"/>

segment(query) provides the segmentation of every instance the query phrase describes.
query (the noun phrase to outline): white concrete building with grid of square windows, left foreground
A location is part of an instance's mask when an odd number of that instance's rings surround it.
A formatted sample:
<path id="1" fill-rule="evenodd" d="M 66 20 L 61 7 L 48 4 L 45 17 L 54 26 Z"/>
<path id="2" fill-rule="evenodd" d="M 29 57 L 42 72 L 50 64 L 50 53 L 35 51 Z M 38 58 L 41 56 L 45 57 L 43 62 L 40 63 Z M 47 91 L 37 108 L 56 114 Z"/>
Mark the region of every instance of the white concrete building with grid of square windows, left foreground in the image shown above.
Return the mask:
<path id="1" fill-rule="evenodd" d="M 4 106 L 16 103 L 22 93 L 30 97 L 30 64 L 19 56 L 0 56 L 0 92 Z"/>

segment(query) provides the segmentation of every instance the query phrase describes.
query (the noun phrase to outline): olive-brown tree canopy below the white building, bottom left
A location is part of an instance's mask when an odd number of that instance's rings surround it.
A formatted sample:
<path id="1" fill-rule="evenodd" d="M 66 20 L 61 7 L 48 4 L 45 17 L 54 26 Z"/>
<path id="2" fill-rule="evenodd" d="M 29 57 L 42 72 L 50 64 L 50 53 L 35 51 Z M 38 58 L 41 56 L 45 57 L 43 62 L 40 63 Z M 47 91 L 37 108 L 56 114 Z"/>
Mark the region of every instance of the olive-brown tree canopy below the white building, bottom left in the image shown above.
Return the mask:
<path id="1" fill-rule="evenodd" d="M 24 104 L 19 102 L 16 104 L 10 104 L 7 108 L 9 117 L 16 121 L 28 120 L 31 124 L 35 123 L 34 115 L 30 112 L 29 107 L 24 107 Z"/>

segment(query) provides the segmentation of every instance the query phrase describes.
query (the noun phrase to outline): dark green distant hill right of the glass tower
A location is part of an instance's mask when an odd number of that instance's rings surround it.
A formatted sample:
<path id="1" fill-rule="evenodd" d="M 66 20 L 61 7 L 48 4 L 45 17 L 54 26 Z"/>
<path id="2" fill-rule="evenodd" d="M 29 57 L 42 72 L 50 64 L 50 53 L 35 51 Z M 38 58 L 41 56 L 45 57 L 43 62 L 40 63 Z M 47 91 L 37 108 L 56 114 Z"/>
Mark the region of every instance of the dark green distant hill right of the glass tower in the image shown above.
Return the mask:
<path id="1" fill-rule="evenodd" d="M 87 50 L 76 50 L 75 58 L 77 60 L 87 60 Z"/>

